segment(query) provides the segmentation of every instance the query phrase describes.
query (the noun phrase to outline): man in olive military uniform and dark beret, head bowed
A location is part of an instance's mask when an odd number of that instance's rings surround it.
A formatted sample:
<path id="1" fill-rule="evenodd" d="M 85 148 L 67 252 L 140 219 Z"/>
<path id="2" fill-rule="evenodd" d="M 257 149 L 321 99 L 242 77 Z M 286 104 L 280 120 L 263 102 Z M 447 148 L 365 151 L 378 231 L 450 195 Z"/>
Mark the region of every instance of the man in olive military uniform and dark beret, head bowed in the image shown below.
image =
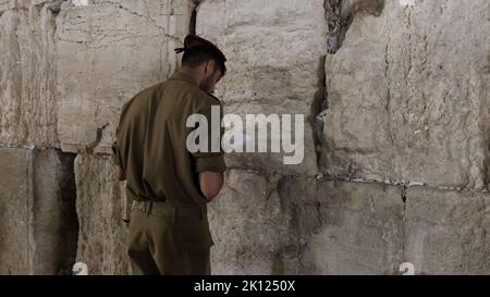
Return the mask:
<path id="1" fill-rule="evenodd" d="M 225 164 L 222 150 L 187 150 L 193 128 L 186 120 L 198 113 L 211 123 L 212 106 L 222 114 L 211 94 L 226 59 L 194 35 L 175 51 L 184 52 L 181 70 L 123 106 L 112 146 L 115 176 L 126 180 L 133 200 L 127 237 L 133 274 L 210 274 L 207 203 L 222 187 Z"/>

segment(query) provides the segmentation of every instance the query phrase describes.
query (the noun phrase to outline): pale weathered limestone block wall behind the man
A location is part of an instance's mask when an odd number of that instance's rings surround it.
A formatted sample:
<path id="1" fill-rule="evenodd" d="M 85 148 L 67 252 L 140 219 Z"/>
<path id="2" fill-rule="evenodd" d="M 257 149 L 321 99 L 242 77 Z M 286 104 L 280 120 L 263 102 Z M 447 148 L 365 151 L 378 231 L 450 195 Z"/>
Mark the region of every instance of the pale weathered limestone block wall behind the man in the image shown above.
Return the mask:
<path id="1" fill-rule="evenodd" d="M 490 273 L 488 1 L 87 3 L 0 0 L 1 274 L 128 273 L 109 148 L 188 33 L 225 113 L 306 119 L 298 165 L 226 156 L 213 273 Z"/>

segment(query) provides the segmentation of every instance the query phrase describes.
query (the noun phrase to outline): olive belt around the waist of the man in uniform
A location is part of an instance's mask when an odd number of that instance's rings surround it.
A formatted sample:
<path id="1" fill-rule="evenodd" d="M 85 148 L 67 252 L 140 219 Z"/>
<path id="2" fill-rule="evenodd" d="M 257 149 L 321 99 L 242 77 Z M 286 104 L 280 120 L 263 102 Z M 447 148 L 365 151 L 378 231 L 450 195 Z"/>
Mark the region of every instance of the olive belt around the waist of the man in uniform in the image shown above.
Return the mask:
<path id="1" fill-rule="evenodd" d="M 146 216 L 154 215 L 166 215 L 175 218 L 185 218 L 185 216 L 198 216 L 201 220 L 206 218 L 207 211 L 205 207 L 197 208 L 179 208 L 170 205 L 167 201 L 139 201 L 133 200 L 133 210 L 143 212 Z"/>

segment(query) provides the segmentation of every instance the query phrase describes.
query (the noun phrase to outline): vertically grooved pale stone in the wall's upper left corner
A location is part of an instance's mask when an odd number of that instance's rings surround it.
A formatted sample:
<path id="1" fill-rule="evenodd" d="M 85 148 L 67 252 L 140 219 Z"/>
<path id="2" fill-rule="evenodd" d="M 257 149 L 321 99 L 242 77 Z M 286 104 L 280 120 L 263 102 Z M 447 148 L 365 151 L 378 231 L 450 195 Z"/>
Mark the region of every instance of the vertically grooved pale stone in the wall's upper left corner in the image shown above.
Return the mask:
<path id="1" fill-rule="evenodd" d="M 14 2 L 0 4 L 0 143 L 57 147 L 54 15 Z"/>

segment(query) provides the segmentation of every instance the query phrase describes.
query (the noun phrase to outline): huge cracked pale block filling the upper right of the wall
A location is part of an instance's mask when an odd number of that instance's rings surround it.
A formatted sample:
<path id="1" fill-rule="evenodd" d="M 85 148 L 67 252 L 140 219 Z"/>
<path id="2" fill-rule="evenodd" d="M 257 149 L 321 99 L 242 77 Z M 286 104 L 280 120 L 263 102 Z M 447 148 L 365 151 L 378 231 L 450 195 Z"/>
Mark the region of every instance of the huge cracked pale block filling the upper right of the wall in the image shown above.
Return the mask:
<path id="1" fill-rule="evenodd" d="M 415 0 L 356 15 L 327 57 L 321 171 L 482 189 L 489 11 L 487 0 Z"/>

